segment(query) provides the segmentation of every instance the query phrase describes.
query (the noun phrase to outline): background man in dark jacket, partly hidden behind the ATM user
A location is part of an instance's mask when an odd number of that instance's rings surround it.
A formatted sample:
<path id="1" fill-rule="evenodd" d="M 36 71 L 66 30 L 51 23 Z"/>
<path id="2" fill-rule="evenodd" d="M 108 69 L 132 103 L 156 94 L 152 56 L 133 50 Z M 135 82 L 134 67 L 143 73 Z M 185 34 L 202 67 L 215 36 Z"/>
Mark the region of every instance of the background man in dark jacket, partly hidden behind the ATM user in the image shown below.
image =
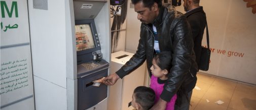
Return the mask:
<path id="1" fill-rule="evenodd" d="M 206 26 L 206 15 L 204 13 L 203 7 L 199 6 L 200 0 L 184 0 L 184 10 L 187 12 L 185 16 L 187 17 L 194 40 L 194 51 L 196 54 L 196 62 L 199 66 L 201 58 L 201 45 L 204 34 L 204 29 Z"/>

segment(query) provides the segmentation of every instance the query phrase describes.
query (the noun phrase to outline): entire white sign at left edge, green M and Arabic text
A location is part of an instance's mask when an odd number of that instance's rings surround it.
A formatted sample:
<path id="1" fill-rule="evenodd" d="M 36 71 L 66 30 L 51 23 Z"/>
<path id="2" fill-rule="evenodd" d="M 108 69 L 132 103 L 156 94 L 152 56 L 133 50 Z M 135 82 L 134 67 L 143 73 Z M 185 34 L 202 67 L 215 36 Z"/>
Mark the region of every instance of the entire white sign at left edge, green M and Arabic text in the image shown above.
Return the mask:
<path id="1" fill-rule="evenodd" d="M 1 0 L 1 109 L 34 109 L 27 1 Z"/>

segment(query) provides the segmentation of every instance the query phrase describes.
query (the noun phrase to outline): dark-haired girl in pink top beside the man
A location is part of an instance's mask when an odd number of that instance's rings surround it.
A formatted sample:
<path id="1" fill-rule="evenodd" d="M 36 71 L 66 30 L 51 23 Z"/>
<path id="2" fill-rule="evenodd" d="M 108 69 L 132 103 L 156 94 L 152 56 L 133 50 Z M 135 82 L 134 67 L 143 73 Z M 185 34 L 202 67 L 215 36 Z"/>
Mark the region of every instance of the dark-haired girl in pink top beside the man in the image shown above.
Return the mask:
<path id="1" fill-rule="evenodd" d="M 155 102 L 159 100 L 168 76 L 171 76 L 168 75 L 172 67 L 171 62 L 172 57 L 170 51 L 162 51 L 157 53 L 153 58 L 152 67 L 150 68 L 152 73 L 150 88 L 152 88 L 156 93 Z M 176 99 L 177 94 L 175 94 L 171 100 L 167 102 L 166 110 L 174 109 Z"/>

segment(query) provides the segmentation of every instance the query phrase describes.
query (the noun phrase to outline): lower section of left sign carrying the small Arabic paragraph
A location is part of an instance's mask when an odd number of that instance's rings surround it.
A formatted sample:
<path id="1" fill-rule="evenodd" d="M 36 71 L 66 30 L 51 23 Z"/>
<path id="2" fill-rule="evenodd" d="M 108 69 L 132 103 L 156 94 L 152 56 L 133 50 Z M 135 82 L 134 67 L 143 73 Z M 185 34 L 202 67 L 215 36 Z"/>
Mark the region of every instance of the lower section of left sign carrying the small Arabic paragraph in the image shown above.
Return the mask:
<path id="1" fill-rule="evenodd" d="M 30 45 L 1 48 L 0 74 L 1 106 L 33 95 Z"/>

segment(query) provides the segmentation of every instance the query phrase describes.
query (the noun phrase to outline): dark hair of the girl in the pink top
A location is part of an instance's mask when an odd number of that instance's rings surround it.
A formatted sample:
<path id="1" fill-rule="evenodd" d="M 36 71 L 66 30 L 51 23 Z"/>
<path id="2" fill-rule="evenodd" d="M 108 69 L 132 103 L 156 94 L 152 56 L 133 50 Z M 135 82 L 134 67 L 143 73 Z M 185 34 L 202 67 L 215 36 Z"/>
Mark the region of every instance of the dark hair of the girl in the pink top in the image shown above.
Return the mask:
<path id="1" fill-rule="evenodd" d="M 171 52 L 170 51 L 162 51 L 160 53 L 157 53 L 154 57 L 156 60 L 157 66 L 161 68 L 161 70 L 167 70 L 168 73 L 170 72 L 170 69 L 172 67 L 171 61 Z"/>

